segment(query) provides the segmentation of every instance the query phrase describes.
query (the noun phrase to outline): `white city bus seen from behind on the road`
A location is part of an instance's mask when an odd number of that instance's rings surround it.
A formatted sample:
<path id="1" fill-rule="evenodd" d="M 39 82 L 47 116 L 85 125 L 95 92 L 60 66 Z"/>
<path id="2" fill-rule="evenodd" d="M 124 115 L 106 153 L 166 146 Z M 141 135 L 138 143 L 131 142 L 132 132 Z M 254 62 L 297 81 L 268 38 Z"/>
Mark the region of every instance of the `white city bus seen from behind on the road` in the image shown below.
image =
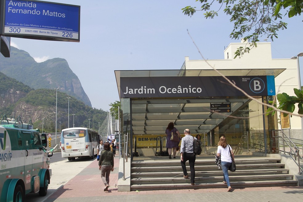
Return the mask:
<path id="1" fill-rule="evenodd" d="M 100 136 L 97 131 L 89 128 L 75 127 L 66 128 L 61 133 L 61 154 L 63 158 L 69 161 L 76 157 L 90 157 L 94 159 L 97 156 L 97 146 Z"/>

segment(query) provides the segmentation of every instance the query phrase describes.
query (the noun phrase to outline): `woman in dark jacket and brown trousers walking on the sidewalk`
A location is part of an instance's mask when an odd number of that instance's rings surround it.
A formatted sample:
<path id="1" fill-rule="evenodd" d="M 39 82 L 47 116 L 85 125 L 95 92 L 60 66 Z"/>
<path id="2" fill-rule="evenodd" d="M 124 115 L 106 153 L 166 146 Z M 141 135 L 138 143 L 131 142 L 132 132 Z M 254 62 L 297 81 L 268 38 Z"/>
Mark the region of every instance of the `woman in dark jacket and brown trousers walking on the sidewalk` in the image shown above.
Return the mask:
<path id="1" fill-rule="evenodd" d="M 105 192 L 109 186 L 109 175 L 114 170 L 114 155 L 108 142 L 104 143 L 104 150 L 100 154 L 99 170 L 101 170 L 101 179 L 105 185 Z"/>

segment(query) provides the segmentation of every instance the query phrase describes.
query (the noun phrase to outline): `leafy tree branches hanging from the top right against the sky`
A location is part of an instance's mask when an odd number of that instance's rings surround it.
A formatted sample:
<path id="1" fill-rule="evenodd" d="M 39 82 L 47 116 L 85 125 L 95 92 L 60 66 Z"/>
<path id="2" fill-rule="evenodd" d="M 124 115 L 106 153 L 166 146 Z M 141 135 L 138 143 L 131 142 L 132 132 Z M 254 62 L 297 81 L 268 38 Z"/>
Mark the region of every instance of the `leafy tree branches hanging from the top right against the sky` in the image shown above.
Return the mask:
<path id="1" fill-rule="evenodd" d="M 295 0 L 196 0 L 202 6 L 200 9 L 192 6 L 183 8 L 184 15 L 192 16 L 196 11 L 204 11 L 205 18 L 214 18 L 218 16 L 219 10 L 223 9 L 224 13 L 229 15 L 230 22 L 234 23 L 234 29 L 230 33 L 230 38 L 239 39 L 244 36 L 248 42 L 248 47 L 239 47 L 235 52 L 235 58 L 249 52 L 251 47 L 257 46 L 261 36 L 278 38 L 277 32 L 287 28 L 287 23 L 281 19 L 285 15 L 289 18 L 300 15 L 303 9 L 303 1 Z M 208 3 L 210 2 L 210 3 Z M 219 4 L 219 10 L 216 9 Z M 281 14 L 283 12 L 283 14 Z"/>

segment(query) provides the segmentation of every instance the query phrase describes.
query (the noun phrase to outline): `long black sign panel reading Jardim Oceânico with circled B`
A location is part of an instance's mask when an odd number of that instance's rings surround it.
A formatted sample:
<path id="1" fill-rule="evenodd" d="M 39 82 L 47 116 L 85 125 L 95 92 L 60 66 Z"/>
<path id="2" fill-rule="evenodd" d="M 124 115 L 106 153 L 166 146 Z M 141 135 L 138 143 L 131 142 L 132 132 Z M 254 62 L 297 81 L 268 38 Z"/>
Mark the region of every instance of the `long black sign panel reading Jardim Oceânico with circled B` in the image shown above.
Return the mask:
<path id="1" fill-rule="evenodd" d="M 228 76 L 229 80 L 251 96 L 275 93 L 273 76 Z M 201 77 L 121 77 L 121 98 L 160 98 L 160 97 L 225 97 L 244 96 L 221 76 Z M 272 89 L 273 88 L 273 89 Z"/>

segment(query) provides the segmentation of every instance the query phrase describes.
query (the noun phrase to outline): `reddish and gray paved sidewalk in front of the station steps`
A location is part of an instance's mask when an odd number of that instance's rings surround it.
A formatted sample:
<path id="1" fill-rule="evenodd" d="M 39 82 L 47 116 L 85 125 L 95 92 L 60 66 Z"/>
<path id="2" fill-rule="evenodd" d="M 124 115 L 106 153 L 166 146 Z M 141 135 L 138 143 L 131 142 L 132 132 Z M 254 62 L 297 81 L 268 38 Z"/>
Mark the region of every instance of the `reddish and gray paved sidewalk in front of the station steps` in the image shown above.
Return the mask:
<path id="1" fill-rule="evenodd" d="M 114 202 L 114 201 L 253 201 L 273 202 L 303 200 L 303 187 L 258 187 L 235 188 L 227 192 L 227 188 L 216 189 L 181 189 L 158 191 L 118 192 L 119 157 L 115 157 L 115 170 L 110 175 L 110 187 L 104 192 L 97 160 L 94 160 L 78 175 L 56 190 L 45 202 Z M 223 174 L 222 174 L 223 175 Z M 223 179 L 223 176 L 222 176 Z M 231 184 L 232 186 L 232 184 Z"/>

